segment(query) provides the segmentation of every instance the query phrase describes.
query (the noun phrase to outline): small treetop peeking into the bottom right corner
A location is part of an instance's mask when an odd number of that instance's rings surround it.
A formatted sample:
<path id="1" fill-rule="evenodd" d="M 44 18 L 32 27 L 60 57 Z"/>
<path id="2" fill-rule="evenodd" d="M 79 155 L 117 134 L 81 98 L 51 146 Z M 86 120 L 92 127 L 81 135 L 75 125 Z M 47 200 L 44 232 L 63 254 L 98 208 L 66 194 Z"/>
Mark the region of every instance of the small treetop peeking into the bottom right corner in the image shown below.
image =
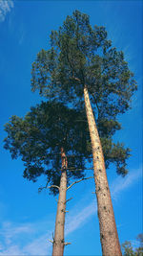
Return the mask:
<path id="1" fill-rule="evenodd" d="M 143 256 L 143 234 L 139 234 L 136 240 L 139 242 L 136 248 L 133 248 L 133 244 L 129 241 L 122 244 L 123 256 Z"/>

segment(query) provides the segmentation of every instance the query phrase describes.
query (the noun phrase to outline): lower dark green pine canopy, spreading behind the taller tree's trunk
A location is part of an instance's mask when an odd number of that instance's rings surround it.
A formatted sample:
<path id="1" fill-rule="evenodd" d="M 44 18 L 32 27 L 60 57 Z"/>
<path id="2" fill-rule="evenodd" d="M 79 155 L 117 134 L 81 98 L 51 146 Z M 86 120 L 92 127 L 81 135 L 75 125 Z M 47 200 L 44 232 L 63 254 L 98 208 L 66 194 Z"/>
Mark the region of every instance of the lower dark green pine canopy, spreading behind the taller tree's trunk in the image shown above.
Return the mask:
<path id="1" fill-rule="evenodd" d="M 68 183 L 71 178 L 84 177 L 86 159 L 90 159 L 92 149 L 84 111 L 69 109 L 63 104 L 42 103 L 31 107 L 25 118 L 12 116 L 5 125 L 8 136 L 4 148 L 12 158 L 21 156 L 24 161 L 24 177 L 36 181 L 46 175 L 50 185 L 59 185 L 61 175 L 61 147 L 68 157 Z M 100 126 L 101 134 L 104 127 Z M 126 159 L 130 150 L 122 144 L 113 144 L 112 138 L 102 137 L 105 163 L 116 165 L 118 174 L 126 174 Z M 51 188 L 51 193 L 58 193 Z"/>

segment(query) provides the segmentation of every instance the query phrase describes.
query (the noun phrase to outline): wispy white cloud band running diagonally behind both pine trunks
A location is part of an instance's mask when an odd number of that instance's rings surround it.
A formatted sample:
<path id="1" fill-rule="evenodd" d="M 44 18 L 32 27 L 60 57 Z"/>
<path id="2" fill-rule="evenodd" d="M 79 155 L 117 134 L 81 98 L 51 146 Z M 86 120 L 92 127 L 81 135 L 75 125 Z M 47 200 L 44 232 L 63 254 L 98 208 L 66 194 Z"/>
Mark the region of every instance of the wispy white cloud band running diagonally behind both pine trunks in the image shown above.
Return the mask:
<path id="1" fill-rule="evenodd" d="M 133 186 L 141 175 L 142 168 L 139 168 L 133 170 L 125 178 L 117 177 L 111 186 L 112 198 L 119 197 L 122 192 Z M 67 236 L 83 226 L 96 212 L 95 199 L 81 210 L 78 210 L 78 207 L 71 209 L 66 221 L 65 235 Z M 54 220 L 52 220 L 53 225 Z M 0 235 L 3 238 L 2 243 L 0 242 L 0 255 L 51 255 L 51 243 L 48 242 L 48 239 L 51 239 L 52 230 L 48 226 L 47 221 L 25 224 L 4 222 L 0 229 Z M 49 230 L 47 231 L 47 229 Z"/>

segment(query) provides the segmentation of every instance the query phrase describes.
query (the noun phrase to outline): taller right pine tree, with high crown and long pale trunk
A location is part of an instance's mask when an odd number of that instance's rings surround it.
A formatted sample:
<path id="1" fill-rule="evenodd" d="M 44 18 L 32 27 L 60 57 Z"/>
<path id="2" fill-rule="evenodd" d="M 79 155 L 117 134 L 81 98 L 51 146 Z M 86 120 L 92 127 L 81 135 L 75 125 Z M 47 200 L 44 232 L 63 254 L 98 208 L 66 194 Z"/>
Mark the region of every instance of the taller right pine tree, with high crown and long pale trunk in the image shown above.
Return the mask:
<path id="1" fill-rule="evenodd" d="M 121 128 L 117 116 L 130 108 L 136 90 L 123 52 L 112 47 L 104 27 L 92 28 L 89 16 L 75 11 L 58 31 L 51 32 L 51 49 L 42 49 L 37 54 L 31 69 L 31 90 L 36 89 L 49 100 L 71 104 L 77 109 L 85 105 L 102 251 L 106 256 L 121 255 L 103 147 L 108 148 L 115 130 Z M 101 125 L 103 131 L 99 131 Z M 121 145 L 117 173 L 124 176 L 128 171 L 122 149 Z"/>

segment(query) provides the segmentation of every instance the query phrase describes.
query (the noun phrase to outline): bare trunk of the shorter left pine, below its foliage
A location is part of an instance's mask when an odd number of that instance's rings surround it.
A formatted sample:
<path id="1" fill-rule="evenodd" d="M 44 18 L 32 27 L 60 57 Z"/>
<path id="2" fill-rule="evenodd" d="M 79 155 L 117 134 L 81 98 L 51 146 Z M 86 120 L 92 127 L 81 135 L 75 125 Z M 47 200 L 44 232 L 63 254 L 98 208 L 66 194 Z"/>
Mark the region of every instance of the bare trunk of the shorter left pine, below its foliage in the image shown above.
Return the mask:
<path id="1" fill-rule="evenodd" d="M 62 171 L 59 188 L 59 198 L 57 204 L 54 240 L 52 248 L 52 256 L 63 256 L 64 253 L 64 226 L 65 226 L 65 210 L 66 210 L 66 190 L 67 190 L 67 157 L 64 149 L 61 149 Z"/>

